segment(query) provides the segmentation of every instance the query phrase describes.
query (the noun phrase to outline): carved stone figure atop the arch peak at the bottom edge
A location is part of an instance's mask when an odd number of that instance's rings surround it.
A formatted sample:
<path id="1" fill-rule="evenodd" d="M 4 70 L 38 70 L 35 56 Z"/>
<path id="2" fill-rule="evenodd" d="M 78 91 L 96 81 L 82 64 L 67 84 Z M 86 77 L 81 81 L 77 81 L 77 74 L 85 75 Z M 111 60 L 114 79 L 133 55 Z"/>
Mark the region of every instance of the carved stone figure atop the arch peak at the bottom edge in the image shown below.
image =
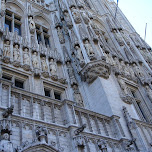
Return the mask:
<path id="1" fill-rule="evenodd" d="M 47 129 L 43 126 L 36 128 L 37 140 L 41 143 L 47 143 Z"/>

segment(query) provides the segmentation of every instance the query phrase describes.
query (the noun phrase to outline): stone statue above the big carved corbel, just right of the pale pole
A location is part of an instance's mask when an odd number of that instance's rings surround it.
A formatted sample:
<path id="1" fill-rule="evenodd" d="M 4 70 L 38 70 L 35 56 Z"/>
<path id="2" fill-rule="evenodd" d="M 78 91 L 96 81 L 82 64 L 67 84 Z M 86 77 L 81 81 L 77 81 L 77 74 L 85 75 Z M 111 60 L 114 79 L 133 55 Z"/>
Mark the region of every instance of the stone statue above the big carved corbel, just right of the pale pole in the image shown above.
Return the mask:
<path id="1" fill-rule="evenodd" d="M 91 46 L 91 44 L 89 43 L 88 40 L 85 40 L 84 46 L 85 46 L 85 49 L 87 51 L 87 54 L 88 54 L 89 58 L 94 59 L 95 58 L 95 53 L 94 53 L 93 48 L 92 48 L 92 46 Z"/>

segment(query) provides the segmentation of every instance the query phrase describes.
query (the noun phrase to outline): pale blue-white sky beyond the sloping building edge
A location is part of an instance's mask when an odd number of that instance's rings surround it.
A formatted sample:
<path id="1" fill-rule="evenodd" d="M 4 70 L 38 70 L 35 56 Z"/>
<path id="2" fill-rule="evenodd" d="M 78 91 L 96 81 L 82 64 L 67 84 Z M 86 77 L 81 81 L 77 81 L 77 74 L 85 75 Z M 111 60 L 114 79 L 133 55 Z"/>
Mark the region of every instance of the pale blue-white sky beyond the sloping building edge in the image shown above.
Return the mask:
<path id="1" fill-rule="evenodd" d="M 143 39 L 147 23 L 146 42 L 152 47 L 152 0 L 119 0 L 118 6 Z"/>

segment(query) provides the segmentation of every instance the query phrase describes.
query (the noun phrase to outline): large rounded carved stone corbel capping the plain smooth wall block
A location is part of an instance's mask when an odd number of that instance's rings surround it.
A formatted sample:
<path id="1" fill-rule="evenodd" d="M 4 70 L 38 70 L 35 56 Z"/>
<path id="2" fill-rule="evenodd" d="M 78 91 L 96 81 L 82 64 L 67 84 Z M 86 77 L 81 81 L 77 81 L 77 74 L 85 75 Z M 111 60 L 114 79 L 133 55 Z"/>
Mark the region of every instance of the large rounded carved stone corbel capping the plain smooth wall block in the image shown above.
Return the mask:
<path id="1" fill-rule="evenodd" d="M 80 72 L 82 80 L 87 83 L 92 83 L 98 77 L 108 79 L 110 73 L 110 65 L 103 60 L 88 63 Z"/>

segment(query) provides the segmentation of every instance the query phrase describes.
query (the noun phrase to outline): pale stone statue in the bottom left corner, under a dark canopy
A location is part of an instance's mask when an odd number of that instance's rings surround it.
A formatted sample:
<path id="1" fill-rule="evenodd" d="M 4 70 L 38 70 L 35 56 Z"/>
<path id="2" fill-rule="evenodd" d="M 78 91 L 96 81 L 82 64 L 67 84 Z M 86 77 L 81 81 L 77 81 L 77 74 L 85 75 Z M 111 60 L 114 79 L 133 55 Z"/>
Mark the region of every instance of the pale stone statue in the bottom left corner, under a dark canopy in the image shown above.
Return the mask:
<path id="1" fill-rule="evenodd" d="M 9 141 L 9 134 L 4 133 L 2 135 L 2 140 L 0 141 L 0 151 L 1 152 L 14 152 L 13 144 Z"/>

